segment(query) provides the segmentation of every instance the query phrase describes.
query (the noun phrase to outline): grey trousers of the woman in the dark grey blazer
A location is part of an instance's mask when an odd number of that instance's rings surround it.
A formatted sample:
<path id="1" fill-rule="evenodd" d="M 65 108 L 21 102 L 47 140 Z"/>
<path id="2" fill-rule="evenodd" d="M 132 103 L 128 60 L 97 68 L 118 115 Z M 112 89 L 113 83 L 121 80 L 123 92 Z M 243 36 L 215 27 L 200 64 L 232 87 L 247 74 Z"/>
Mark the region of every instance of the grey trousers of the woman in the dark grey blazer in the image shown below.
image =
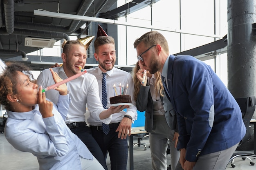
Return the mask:
<path id="1" fill-rule="evenodd" d="M 152 159 L 152 170 L 166 170 L 167 168 L 167 142 L 170 139 L 171 168 L 175 169 L 180 152 L 174 147 L 173 135 L 175 130 L 171 130 L 165 116 L 154 115 L 153 130 L 149 133 L 150 152 Z"/>

